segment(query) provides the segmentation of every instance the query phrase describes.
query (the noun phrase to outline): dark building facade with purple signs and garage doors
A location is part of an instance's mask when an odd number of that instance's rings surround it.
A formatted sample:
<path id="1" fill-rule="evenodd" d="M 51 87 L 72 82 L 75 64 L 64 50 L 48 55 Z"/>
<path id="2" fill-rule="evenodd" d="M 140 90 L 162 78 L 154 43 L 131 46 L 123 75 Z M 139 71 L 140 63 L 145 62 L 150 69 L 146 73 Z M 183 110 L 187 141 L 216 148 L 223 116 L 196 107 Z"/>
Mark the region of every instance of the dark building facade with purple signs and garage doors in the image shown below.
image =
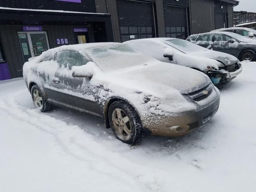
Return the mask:
<path id="1" fill-rule="evenodd" d="M 90 42 L 173 37 L 233 26 L 236 0 L 0 1 L 0 80 L 22 77 L 28 58 Z"/>

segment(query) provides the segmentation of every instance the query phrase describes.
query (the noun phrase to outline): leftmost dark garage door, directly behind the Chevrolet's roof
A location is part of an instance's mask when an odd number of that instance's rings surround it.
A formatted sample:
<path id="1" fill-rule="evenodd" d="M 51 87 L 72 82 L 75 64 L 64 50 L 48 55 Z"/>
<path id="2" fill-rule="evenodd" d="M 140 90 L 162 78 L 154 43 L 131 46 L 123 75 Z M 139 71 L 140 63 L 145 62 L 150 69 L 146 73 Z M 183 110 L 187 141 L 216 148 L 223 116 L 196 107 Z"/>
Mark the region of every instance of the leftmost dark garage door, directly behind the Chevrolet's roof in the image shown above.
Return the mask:
<path id="1" fill-rule="evenodd" d="M 153 4 L 117 0 L 122 42 L 155 37 Z"/>

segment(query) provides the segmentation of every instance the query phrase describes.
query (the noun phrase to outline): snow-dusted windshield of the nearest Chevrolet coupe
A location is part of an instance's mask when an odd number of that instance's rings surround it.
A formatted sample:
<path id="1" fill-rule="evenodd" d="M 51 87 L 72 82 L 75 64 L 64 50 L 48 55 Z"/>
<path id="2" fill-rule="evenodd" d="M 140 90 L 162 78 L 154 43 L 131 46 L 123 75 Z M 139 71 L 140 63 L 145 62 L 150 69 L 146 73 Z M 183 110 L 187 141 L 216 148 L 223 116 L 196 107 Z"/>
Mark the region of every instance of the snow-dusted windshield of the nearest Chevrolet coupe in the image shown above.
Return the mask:
<path id="1" fill-rule="evenodd" d="M 105 72 L 158 62 L 140 50 L 124 44 L 92 48 L 87 52 Z"/>

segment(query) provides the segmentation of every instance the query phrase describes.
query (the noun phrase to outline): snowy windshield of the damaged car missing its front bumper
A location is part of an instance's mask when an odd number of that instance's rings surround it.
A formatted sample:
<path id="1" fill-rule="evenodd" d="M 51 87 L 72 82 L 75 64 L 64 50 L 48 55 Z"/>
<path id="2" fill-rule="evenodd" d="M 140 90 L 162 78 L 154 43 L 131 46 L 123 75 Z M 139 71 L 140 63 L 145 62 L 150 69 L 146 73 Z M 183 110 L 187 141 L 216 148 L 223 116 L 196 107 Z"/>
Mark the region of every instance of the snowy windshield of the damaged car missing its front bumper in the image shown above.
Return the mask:
<path id="1" fill-rule="evenodd" d="M 194 43 L 191 43 L 186 40 L 181 40 L 181 39 L 172 39 L 172 40 L 167 40 L 166 44 L 173 46 L 174 48 L 184 52 L 184 53 L 189 53 L 189 52 L 197 52 L 197 51 L 205 51 L 208 50 L 206 48 L 203 48 L 199 45 L 196 45 Z"/>

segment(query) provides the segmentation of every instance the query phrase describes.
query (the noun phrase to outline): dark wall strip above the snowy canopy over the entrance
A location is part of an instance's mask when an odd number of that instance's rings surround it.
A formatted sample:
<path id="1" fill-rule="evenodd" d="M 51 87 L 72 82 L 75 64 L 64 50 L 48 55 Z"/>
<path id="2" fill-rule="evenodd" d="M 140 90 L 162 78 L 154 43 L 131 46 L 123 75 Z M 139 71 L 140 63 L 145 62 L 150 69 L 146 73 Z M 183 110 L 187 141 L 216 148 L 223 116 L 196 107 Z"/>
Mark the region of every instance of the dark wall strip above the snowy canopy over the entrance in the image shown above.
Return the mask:
<path id="1" fill-rule="evenodd" d="M 55 0 L 0 0 L 0 7 L 96 13 L 96 6 L 94 0 L 82 0 L 82 3 Z"/>

